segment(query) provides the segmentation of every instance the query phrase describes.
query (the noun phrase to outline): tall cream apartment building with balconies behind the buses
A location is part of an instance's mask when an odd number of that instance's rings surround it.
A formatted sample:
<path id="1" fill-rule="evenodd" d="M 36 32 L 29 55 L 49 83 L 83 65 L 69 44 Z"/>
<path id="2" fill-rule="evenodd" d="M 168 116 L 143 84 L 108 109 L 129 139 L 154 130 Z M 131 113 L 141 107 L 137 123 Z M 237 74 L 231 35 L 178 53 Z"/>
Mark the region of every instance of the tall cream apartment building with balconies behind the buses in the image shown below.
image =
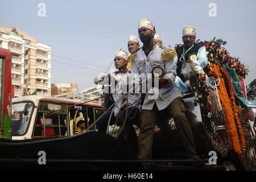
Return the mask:
<path id="1" fill-rule="evenodd" d="M 14 27 L 0 26 L 0 47 L 12 53 L 14 96 L 51 96 L 51 46 Z M 35 92 L 36 91 L 36 92 Z"/>

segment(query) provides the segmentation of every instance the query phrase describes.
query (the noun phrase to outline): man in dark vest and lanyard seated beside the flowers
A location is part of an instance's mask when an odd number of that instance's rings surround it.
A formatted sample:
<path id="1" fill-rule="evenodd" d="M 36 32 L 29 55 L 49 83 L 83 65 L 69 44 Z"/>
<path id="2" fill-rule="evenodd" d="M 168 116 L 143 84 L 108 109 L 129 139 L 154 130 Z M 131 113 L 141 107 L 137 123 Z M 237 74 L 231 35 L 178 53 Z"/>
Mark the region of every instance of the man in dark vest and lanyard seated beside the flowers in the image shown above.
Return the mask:
<path id="1" fill-rule="evenodd" d="M 208 65 L 206 49 L 203 45 L 195 43 L 196 30 L 192 27 L 185 27 L 182 31 L 183 46 L 177 47 L 177 56 L 174 57 L 177 77 L 176 84 L 181 92 L 187 92 L 184 71 L 186 70 L 183 61 L 190 63 L 192 69 L 204 68 Z M 184 59 L 184 60 L 183 60 Z"/>

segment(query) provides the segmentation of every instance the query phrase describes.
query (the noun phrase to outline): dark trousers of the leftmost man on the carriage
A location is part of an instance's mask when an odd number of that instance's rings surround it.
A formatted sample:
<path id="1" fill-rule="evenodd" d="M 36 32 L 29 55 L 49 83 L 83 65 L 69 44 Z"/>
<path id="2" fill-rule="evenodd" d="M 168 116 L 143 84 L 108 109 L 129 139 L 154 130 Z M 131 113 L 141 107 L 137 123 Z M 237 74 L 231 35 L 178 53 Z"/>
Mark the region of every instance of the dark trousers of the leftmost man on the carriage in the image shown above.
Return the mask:
<path id="1" fill-rule="evenodd" d="M 125 122 L 126 110 L 128 111 L 128 115 Z M 111 111 L 108 111 L 98 121 L 97 129 L 99 132 L 106 133 L 110 114 Z M 122 127 L 123 123 L 125 122 L 125 126 L 123 126 L 123 129 L 119 134 L 118 140 L 125 143 L 135 155 L 138 155 L 138 137 L 133 125 L 138 125 L 139 119 L 141 118 L 141 113 L 137 108 L 129 107 L 125 110 L 121 110 L 117 117 L 117 126 Z M 116 118 L 114 117 L 113 113 L 110 120 L 110 125 L 114 125 L 115 121 Z"/>

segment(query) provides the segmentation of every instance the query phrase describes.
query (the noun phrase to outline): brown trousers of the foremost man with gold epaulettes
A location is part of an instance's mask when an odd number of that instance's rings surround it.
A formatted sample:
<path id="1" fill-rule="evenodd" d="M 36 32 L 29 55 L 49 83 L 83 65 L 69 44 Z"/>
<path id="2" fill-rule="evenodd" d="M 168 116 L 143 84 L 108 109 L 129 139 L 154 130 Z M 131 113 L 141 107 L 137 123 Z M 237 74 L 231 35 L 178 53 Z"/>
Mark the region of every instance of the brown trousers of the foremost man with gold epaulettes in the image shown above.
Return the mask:
<path id="1" fill-rule="evenodd" d="M 197 155 L 191 126 L 185 117 L 186 108 L 181 97 L 175 98 L 170 105 L 164 109 L 168 116 L 174 118 L 179 132 L 180 143 L 187 152 L 188 158 Z M 142 110 L 142 121 L 139 133 L 139 158 L 146 160 L 152 158 L 152 144 L 154 140 L 155 124 L 159 118 L 159 110 L 154 105 L 152 110 Z"/>

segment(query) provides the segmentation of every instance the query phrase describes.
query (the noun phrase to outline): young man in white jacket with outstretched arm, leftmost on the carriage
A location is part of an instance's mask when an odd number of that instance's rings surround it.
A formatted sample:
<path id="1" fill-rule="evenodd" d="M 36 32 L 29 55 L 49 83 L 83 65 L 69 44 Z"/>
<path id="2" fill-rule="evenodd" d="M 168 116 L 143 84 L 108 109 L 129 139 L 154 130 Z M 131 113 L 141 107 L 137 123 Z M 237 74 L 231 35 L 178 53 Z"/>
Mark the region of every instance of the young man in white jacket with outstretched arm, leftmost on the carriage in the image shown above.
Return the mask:
<path id="1" fill-rule="evenodd" d="M 118 71 L 110 75 L 99 75 L 96 78 L 94 78 L 95 84 L 99 84 L 105 78 L 110 79 L 110 77 L 112 77 L 112 79 L 115 80 L 115 84 L 113 85 L 115 88 L 115 92 L 112 93 L 114 102 L 117 102 L 119 98 L 123 96 L 123 93 L 121 92 L 120 88 L 125 87 L 127 85 L 127 78 L 131 74 L 131 72 L 128 71 L 128 69 L 126 68 L 127 57 L 128 55 L 125 51 L 117 51 L 114 57 L 114 64 L 115 68 L 117 68 Z M 141 114 L 139 109 L 134 107 L 137 106 L 139 98 L 141 98 L 140 93 L 127 94 L 127 97 L 124 97 L 121 102 L 116 104 L 116 107 L 114 109 L 114 115 L 112 115 L 110 121 L 110 125 L 114 125 L 115 121 L 117 120 L 117 125 L 122 126 L 123 122 L 125 121 L 126 109 L 128 109 L 129 115 L 127 116 L 126 124 L 122 130 L 122 133 L 119 134 L 119 136 L 121 136 L 119 139 L 122 141 L 126 135 L 127 146 L 130 148 L 132 152 L 134 152 L 135 155 L 138 154 L 138 138 L 133 125 L 138 125 L 138 121 L 141 117 Z M 111 113 L 112 110 L 109 110 L 98 121 L 97 129 L 99 132 L 106 133 Z"/>

